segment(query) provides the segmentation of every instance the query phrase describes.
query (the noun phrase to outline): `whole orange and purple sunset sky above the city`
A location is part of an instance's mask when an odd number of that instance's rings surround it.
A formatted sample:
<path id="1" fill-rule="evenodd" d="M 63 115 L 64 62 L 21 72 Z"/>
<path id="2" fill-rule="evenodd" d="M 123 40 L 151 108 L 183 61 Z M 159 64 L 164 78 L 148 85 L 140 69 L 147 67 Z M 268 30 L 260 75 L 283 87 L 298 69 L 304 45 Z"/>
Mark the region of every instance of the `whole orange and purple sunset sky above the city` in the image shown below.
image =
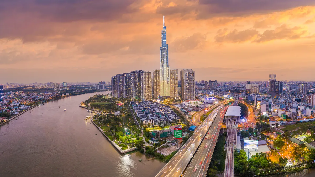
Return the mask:
<path id="1" fill-rule="evenodd" d="M 0 83 L 159 69 L 163 15 L 196 80 L 315 80 L 314 0 L 0 0 Z"/>

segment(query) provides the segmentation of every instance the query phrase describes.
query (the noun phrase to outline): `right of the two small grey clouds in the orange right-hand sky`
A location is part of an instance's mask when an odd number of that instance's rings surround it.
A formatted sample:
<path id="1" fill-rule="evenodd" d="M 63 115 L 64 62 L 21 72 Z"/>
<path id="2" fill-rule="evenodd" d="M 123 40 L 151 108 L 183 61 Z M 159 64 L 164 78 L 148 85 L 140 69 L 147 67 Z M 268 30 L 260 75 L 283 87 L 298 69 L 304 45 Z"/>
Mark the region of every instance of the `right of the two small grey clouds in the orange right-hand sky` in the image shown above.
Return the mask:
<path id="1" fill-rule="evenodd" d="M 301 27 L 295 26 L 290 28 L 287 25 L 281 25 L 274 30 L 266 30 L 262 34 L 258 34 L 253 42 L 261 43 L 277 39 L 298 39 L 306 34 L 307 31 Z"/>

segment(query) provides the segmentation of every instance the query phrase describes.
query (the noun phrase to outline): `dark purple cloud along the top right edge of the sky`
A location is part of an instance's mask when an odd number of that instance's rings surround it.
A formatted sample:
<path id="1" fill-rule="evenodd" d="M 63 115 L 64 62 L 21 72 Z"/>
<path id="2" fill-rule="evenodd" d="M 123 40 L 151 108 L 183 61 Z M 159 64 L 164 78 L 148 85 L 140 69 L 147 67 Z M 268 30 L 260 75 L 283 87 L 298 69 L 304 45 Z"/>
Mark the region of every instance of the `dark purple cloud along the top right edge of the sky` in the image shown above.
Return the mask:
<path id="1" fill-rule="evenodd" d="M 210 14 L 248 14 L 314 5 L 314 0 L 199 0 Z"/>

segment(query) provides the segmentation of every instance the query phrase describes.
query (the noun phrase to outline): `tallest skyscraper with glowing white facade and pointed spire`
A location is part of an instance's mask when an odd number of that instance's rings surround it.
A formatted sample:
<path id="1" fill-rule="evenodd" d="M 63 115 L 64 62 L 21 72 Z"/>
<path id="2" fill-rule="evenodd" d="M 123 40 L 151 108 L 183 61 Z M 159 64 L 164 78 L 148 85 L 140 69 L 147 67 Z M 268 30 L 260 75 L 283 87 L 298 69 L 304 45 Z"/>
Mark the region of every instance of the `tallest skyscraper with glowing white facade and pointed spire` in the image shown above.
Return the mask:
<path id="1" fill-rule="evenodd" d="M 161 32 L 162 46 L 160 47 L 160 95 L 170 96 L 169 45 L 166 44 L 166 26 L 163 16 L 163 30 Z"/>

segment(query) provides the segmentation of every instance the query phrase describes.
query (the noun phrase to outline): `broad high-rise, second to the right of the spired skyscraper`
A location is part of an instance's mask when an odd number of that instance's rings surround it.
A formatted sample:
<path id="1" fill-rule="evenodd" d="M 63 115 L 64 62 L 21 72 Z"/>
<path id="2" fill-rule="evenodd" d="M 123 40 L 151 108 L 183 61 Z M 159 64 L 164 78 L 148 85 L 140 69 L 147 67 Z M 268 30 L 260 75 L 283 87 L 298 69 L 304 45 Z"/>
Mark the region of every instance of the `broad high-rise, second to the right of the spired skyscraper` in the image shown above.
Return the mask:
<path id="1" fill-rule="evenodd" d="M 180 90 L 183 100 L 195 99 L 195 71 L 192 69 L 180 71 Z"/>

